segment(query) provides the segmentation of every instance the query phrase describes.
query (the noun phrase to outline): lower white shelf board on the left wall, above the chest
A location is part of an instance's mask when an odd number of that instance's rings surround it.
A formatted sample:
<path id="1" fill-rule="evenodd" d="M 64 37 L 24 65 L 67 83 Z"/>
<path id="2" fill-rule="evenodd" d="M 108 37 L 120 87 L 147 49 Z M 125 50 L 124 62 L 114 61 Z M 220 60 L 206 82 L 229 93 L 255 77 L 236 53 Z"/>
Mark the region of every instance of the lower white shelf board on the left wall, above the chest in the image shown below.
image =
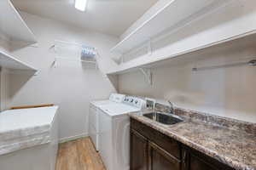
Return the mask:
<path id="1" fill-rule="evenodd" d="M 0 67 L 10 70 L 37 71 L 31 65 L 27 65 L 2 51 L 0 51 Z"/>

